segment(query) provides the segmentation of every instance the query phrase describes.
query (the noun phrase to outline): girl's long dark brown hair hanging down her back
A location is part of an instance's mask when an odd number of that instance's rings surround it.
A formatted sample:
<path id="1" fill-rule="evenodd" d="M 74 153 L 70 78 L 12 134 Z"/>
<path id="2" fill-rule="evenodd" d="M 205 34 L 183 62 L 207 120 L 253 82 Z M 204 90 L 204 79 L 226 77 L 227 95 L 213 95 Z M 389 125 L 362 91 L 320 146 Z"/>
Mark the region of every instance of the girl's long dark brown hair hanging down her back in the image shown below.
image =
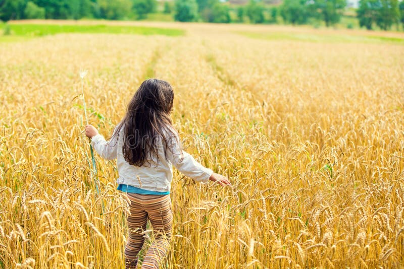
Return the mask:
<path id="1" fill-rule="evenodd" d="M 175 138 L 170 119 L 174 92 L 164 80 L 145 80 L 130 100 L 125 117 L 112 137 L 119 136 L 124 128 L 122 154 L 130 165 L 151 165 L 153 157 L 158 165 L 158 143 L 162 142 L 164 154 L 172 151 Z M 161 139 L 161 140 L 160 140 Z M 156 160 L 155 159 L 155 160 Z"/>

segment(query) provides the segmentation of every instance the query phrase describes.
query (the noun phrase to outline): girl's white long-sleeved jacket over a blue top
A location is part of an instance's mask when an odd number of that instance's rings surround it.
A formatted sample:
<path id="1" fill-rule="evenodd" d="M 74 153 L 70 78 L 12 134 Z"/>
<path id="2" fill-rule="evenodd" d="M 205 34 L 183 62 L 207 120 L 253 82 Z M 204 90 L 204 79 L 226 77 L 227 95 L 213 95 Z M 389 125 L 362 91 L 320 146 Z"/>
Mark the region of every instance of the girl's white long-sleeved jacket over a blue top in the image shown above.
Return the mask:
<path id="1" fill-rule="evenodd" d="M 118 184 L 126 184 L 153 191 L 170 191 L 171 180 L 173 178 L 172 165 L 195 181 L 207 182 L 212 175 L 213 171 L 211 169 L 202 166 L 191 155 L 182 151 L 177 132 L 175 132 L 175 139 L 171 140 L 173 146 L 172 152 L 170 150 L 167 151 L 168 160 L 166 160 L 164 147 L 161 140 L 159 140 L 159 163 L 157 166 L 154 162 L 151 162 L 149 167 L 130 165 L 122 155 L 123 129 L 121 128 L 119 133 L 118 143 L 116 136 L 111 141 L 106 141 L 101 134 L 97 134 L 91 139 L 92 147 L 101 157 L 107 160 L 117 159 Z M 115 128 L 114 133 L 116 130 L 117 128 Z M 183 157 L 182 160 L 181 157 Z M 155 159 L 153 161 L 156 161 Z"/>

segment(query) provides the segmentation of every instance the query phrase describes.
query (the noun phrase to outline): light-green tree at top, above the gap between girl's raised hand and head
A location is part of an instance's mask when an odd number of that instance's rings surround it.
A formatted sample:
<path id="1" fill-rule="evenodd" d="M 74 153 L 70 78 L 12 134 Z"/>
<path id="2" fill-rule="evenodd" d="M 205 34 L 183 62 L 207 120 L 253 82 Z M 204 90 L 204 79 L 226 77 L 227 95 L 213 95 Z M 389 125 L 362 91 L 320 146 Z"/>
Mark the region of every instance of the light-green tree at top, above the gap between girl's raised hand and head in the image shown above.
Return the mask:
<path id="1" fill-rule="evenodd" d="M 122 20 L 131 17 L 131 0 L 98 0 L 100 17 L 108 20 Z"/>

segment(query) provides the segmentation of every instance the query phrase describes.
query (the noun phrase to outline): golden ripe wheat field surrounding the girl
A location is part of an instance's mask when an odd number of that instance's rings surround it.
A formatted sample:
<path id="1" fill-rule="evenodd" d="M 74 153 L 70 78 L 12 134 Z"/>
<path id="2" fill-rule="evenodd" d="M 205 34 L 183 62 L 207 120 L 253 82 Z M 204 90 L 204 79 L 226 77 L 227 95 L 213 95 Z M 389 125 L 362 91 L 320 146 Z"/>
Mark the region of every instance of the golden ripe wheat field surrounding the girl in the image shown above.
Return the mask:
<path id="1" fill-rule="evenodd" d="M 403 44 L 171 27 L 0 43 L 0 268 L 123 267 L 127 199 L 97 155 L 96 192 L 82 69 L 105 137 L 144 79 L 169 81 L 185 150 L 233 184 L 174 172 L 168 268 L 403 268 Z M 320 39 L 266 38 L 285 31 Z"/>

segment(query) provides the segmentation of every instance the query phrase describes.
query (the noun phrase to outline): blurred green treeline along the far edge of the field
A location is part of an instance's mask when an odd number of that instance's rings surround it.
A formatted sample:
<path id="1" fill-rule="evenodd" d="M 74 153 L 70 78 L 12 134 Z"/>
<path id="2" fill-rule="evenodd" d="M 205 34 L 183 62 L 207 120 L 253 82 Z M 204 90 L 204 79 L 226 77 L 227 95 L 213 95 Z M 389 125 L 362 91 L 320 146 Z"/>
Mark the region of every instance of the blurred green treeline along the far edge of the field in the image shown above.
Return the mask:
<path id="1" fill-rule="evenodd" d="M 176 21 L 213 23 L 287 23 L 308 24 L 323 21 L 326 26 L 340 21 L 346 0 L 284 0 L 268 6 L 250 0 L 232 6 L 219 0 L 174 0 L 164 2 L 160 13 L 171 14 Z M 0 0 L 0 20 L 19 19 L 144 19 L 156 13 L 156 0 Z M 404 1 L 360 0 L 357 17 L 361 27 L 377 25 L 388 30 L 392 25 L 404 28 Z"/>

